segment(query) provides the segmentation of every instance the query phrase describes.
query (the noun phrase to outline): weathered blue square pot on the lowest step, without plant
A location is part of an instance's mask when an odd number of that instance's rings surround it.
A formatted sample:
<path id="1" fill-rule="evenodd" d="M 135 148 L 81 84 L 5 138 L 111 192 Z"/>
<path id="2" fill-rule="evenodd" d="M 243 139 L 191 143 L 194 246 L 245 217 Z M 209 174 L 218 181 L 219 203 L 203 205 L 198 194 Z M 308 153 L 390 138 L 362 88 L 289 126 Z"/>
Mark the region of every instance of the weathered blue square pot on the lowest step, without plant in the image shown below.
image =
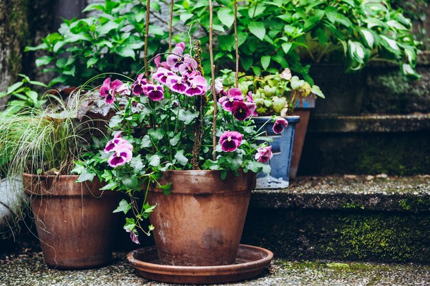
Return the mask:
<path id="1" fill-rule="evenodd" d="M 295 125 L 300 121 L 299 116 L 284 117 L 288 121 L 288 127 L 284 128 L 281 134 L 273 132 L 273 123 L 271 117 L 254 117 L 256 126 L 263 126 L 268 120 L 269 123 L 264 125 L 262 132 L 266 132 L 266 136 L 273 138 L 273 142 L 269 143 L 272 146 L 273 158 L 269 160 L 271 167 L 270 174 L 259 173 L 257 175 L 256 189 L 282 189 L 288 187 L 288 178 L 291 167 L 291 154 L 293 154 L 293 143 Z"/>

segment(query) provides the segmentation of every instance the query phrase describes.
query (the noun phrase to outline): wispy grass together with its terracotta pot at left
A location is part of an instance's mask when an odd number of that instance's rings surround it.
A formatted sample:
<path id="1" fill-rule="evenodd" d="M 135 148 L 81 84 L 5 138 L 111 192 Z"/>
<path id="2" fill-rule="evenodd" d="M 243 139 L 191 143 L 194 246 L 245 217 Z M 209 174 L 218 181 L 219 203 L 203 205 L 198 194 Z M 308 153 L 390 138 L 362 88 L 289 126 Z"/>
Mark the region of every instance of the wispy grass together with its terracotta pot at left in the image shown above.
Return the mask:
<path id="1" fill-rule="evenodd" d="M 54 103 L 46 108 L 1 113 L 0 167 L 6 178 L 23 178 L 49 267 L 105 265 L 111 261 L 112 211 L 119 198 L 101 191 L 100 181 L 77 181 L 72 174 L 92 131 L 91 121 L 77 119 L 82 101 L 48 98 Z"/>

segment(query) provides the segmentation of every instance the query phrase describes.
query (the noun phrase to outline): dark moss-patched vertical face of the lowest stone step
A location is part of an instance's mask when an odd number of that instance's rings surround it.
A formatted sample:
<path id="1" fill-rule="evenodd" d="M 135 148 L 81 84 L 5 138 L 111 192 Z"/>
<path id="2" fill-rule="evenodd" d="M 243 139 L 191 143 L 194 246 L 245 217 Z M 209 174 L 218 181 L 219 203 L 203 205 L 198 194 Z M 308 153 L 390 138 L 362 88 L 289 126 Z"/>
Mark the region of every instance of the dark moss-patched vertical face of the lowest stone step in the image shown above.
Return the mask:
<path id="1" fill-rule="evenodd" d="M 288 259 L 430 262 L 430 213 L 249 210 L 242 243 Z"/>

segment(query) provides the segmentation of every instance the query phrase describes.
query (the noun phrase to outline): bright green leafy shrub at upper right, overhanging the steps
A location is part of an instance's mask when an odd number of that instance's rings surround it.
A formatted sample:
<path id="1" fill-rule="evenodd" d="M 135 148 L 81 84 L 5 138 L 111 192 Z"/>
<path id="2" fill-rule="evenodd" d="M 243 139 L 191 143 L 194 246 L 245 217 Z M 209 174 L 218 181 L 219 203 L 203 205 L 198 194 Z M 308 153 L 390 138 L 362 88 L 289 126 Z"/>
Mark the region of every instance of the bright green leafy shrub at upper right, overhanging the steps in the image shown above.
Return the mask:
<path id="1" fill-rule="evenodd" d="M 214 20 L 218 34 L 218 66 L 232 69 L 234 1 L 216 1 Z M 193 29 L 209 29 L 207 5 L 202 1 L 179 1 L 177 14 L 188 13 L 185 23 Z M 192 31 L 193 31 L 192 29 Z M 227 29 L 225 32 L 224 29 Z M 308 62 L 343 61 L 347 71 L 362 69 L 370 61 L 400 65 L 405 75 L 417 78 L 416 47 L 411 21 L 389 1 L 246 1 L 238 6 L 238 44 L 242 69 L 276 72 L 289 67 L 308 75 Z M 207 43 L 207 38 L 201 39 Z M 205 67 L 208 67 L 205 64 Z M 257 70 L 258 70 L 257 69 Z"/>

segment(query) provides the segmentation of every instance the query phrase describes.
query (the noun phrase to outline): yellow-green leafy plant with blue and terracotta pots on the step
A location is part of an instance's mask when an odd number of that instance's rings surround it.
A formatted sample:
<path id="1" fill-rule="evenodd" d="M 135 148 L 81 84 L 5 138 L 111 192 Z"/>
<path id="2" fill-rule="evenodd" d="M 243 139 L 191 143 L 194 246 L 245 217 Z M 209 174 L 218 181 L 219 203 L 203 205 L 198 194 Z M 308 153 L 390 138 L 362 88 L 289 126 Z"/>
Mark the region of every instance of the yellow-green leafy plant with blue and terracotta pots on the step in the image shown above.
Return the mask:
<path id="1" fill-rule="evenodd" d="M 218 84 L 220 86 L 234 84 L 236 74 L 228 69 L 222 72 L 224 75 L 218 79 Z M 238 86 L 256 103 L 258 117 L 255 117 L 254 121 L 257 126 L 262 126 L 267 136 L 273 139 L 273 142 L 269 144 L 273 152 L 273 157 L 270 158 L 271 174 L 260 174 L 257 188 L 288 187 L 291 169 L 295 169 L 297 172 L 308 126 L 310 114 L 308 108 L 315 107 L 315 97 L 324 98 L 324 94 L 319 86 L 310 86 L 308 82 L 292 76 L 289 69 L 285 69 L 282 73 L 270 73 L 264 77 L 244 73 L 239 73 L 238 77 Z M 295 111 L 296 108 L 299 109 L 299 112 Z M 299 115 L 303 115 L 303 121 Z M 284 119 L 265 124 L 271 116 L 281 116 Z M 286 128 L 286 132 L 281 134 L 284 128 Z M 297 129 L 299 130 L 298 137 L 295 134 Z M 293 157 L 294 152 L 296 152 L 295 157 Z M 292 161 L 292 159 L 294 160 Z"/>

